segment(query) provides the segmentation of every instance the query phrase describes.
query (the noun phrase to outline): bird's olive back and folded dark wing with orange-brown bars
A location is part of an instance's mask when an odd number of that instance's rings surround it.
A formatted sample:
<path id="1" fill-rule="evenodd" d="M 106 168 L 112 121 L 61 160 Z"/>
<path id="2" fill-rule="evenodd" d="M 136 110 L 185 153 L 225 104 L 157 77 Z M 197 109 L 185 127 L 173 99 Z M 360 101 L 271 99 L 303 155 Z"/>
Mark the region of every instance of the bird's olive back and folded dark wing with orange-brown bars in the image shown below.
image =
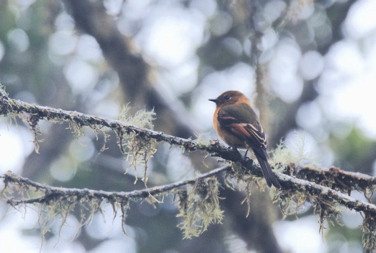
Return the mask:
<path id="1" fill-rule="evenodd" d="M 267 158 L 267 139 L 253 109 L 246 103 L 226 105 L 218 111 L 218 122 L 257 152 Z"/>

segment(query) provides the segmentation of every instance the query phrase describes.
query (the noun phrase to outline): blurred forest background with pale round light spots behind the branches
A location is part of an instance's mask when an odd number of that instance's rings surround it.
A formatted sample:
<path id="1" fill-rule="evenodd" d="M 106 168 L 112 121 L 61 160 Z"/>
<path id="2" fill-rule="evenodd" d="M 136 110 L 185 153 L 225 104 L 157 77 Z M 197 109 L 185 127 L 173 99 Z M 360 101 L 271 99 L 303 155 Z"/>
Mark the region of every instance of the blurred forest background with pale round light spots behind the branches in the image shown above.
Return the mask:
<path id="1" fill-rule="evenodd" d="M 374 175 L 376 168 L 376 1 L 374 0 L 1 0 L 0 83 L 9 97 L 116 119 L 154 108 L 155 130 L 189 138 L 212 128 L 208 99 L 236 89 L 251 98 L 269 148 L 296 131 L 321 166 Z M 256 72 L 256 63 L 259 72 Z M 257 73 L 259 81 L 256 82 Z M 129 164 L 114 133 L 77 138 L 68 125 L 40 122 L 34 151 L 29 126 L 0 122 L 0 172 L 54 186 L 130 191 Z M 299 138 L 298 138 L 299 139 Z M 216 159 L 159 144 L 149 186 L 192 178 L 220 166 Z M 139 168 L 142 170 L 142 168 Z M 361 215 L 318 233 L 310 205 L 283 217 L 269 193 L 253 190 L 250 217 L 241 192 L 221 190 L 223 224 L 182 239 L 172 196 L 156 208 L 133 203 L 125 236 L 104 205 L 77 233 L 59 220 L 41 252 L 363 252 Z M 352 196 L 364 199 L 361 194 Z M 37 214 L 0 205 L 2 252 L 38 252 Z M 77 235 L 76 235 L 77 234 Z"/>

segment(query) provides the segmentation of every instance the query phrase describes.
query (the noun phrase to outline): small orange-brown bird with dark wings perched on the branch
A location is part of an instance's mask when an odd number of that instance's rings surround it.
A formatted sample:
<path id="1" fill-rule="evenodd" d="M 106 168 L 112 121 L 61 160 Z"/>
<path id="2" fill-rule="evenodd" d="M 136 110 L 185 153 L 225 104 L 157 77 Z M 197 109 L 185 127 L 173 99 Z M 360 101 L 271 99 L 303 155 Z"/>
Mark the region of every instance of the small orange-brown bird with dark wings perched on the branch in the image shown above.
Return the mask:
<path id="1" fill-rule="evenodd" d="M 231 148 L 247 149 L 244 156 L 249 150 L 253 151 L 268 187 L 274 185 L 280 189 L 268 163 L 267 138 L 249 99 L 238 90 L 228 90 L 208 100 L 216 104 L 213 125 L 218 136 Z"/>

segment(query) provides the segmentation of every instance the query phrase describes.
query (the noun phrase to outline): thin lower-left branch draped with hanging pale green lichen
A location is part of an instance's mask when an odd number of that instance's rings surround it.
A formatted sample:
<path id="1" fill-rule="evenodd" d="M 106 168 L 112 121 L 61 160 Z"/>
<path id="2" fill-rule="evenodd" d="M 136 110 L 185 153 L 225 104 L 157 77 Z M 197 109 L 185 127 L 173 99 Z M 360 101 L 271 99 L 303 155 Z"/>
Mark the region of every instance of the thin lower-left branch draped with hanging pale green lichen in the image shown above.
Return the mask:
<path id="1" fill-rule="evenodd" d="M 184 230 L 184 237 L 190 238 L 199 236 L 209 224 L 222 220 L 223 211 L 220 210 L 218 198 L 219 183 L 215 176 L 230 172 L 231 169 L 230 166 L 224 166 L 198 178 L 130 192 L 53 187 L 7 172 L 0 175 L 4 183 L 1 197 L 15 209 L 26 208 L 27 205 L 39 206 L 39 224 L 41 224 L 43 238 L 44 233 L 49 229 L 45 227 L 45 224 L 56 214 L 61 214 L 61 228 L 66 223 L 70 212 L 78 210 L 81 214 L 79 224 L 83 226 L 90 222 L 95 212 L 102 211 L 103 201 L 112 205 L 114 215 L 120 209 L 121 226 L 125 233 L 124 224 L 130 201 L 147 200 L 153 203 L 158 201 L 156 197 L 172 193 L 179 199 L 179 216 L 183 217 L 179 227 Z M 31 194 L 37 196 L 30 197 Z M 43 221 L 41 221 L 41 214 L 47 217 Z"/>

